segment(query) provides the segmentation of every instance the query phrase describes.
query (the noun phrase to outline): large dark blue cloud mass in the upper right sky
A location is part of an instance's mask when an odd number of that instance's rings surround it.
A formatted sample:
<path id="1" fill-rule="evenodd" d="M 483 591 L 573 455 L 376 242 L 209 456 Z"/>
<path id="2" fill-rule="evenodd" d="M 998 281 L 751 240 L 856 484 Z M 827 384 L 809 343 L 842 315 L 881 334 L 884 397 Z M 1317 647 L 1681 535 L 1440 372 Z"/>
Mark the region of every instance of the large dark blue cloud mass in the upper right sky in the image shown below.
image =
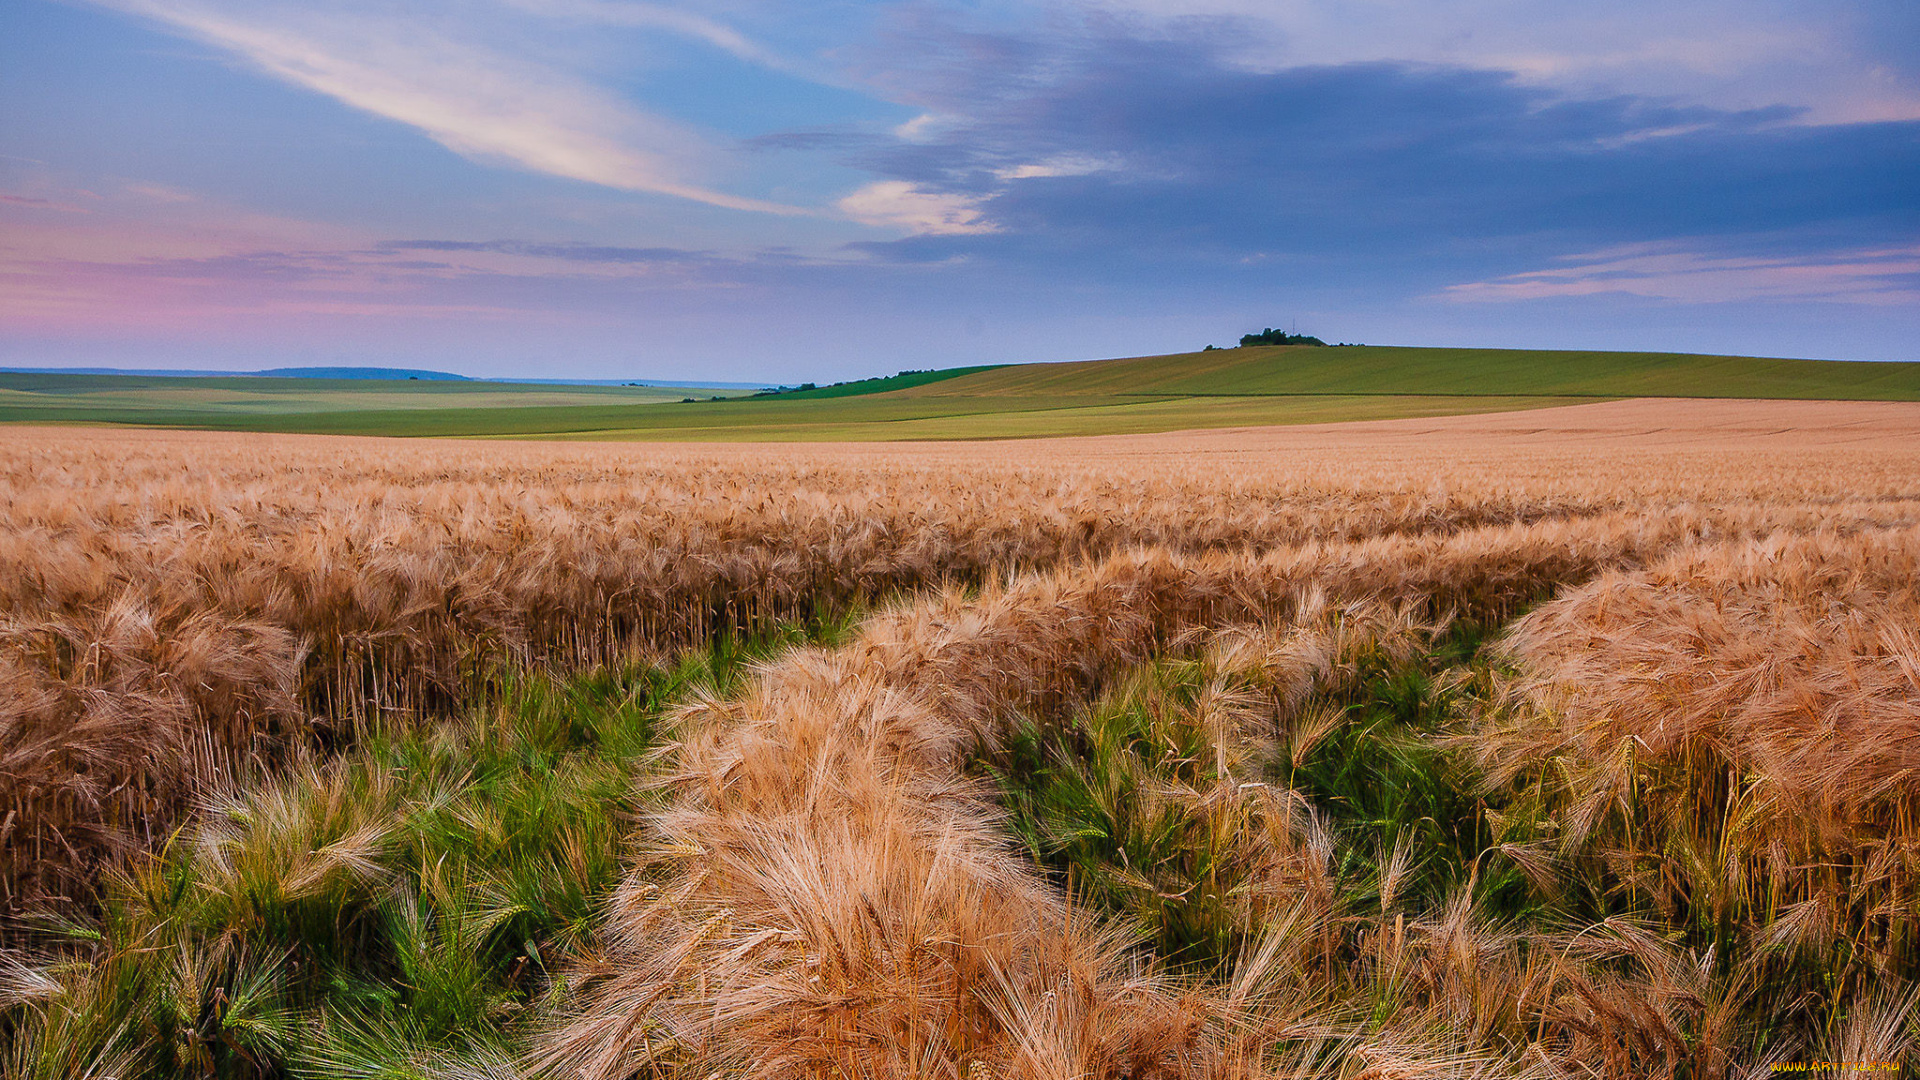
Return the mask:
<path id="1" fill-rule="evenodd" d="M 1233 263 L 1325 284 L 1344 267 L 1421 296 L 1565 252 L 1692 236 L 1711 256 L 1761 234 L 1795 254 L 1857 250 L 1920 223 L 1905 181 L 1920 123 L 1795 125 L 1782 108 L 1578 98 L 1467 67 L 1258 71 L 1233 61 L 1242 37 L 902 23 L 885 52 L 914 79 L 895 75 L 897 92 L 958 119 L 851 154 L 977 219 L 973 234 L 866 250 L 1108 281 Z"/>

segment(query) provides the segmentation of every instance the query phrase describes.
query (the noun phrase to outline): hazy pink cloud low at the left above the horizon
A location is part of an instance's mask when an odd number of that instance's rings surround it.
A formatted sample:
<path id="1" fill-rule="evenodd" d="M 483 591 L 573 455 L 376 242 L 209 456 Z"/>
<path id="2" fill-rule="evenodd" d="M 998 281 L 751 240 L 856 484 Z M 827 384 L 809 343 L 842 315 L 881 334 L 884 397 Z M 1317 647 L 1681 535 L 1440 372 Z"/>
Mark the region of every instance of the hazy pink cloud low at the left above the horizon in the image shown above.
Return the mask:
<path id="1" fill-rule="evenodd" d="M 386 242 L 357 229 L 250 213 L 127 184 L 83 219 L 0 202 L 0 332 L 165 331 L 202 336 L 313 319 L 593 323 L 549 309 L 557 282 L 710 281 L 716 256 L 538 242 Z M 138 202 L 140 206 L 134 206 Z M 724 261 L 724 259 L 718 259 Z"/>

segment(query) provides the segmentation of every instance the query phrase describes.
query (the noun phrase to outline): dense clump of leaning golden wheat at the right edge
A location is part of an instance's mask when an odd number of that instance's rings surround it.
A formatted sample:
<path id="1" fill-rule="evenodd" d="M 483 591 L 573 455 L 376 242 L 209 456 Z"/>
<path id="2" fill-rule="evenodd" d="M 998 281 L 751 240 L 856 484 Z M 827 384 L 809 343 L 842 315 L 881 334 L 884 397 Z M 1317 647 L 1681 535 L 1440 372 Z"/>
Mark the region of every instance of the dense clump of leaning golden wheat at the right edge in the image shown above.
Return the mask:
<path id="1" fill-rule="evenodd" d="M 1755 1038 L 1834 1040 L 1920 976 L 1916 571 L 1920 534 L 1864 530 L 1603 575 L 1513 626 L 1467 740 L 1501 838 L 1572 911 L 1743 970 Z"/>

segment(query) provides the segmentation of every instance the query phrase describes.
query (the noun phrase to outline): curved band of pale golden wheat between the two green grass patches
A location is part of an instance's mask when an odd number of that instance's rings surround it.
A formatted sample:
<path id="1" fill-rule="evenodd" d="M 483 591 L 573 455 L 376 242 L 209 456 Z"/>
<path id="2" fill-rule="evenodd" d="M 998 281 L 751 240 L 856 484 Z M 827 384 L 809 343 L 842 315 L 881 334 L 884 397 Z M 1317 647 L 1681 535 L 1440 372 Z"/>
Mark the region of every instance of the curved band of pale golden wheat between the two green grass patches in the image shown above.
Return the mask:
<path id="1" fill-rule="evenodd" d="M 1263 978 L 1248 976 L 1223 1003 L 1217 986 L 1139 951 L 1127 928 L 1075 919 L 1008 844 L 1004 811 L 966 761 L 993 761 L 1021 738 L 1020 717 L 1083 707 L 1210 625 L 1317 628 L 1329 603 L 1375 596 L 1419 598 L 1394 611 L 1402 625 L 1436 607 L 1494 619 L 1659 536 L 1513 527 L 1258 557 L 1148 552 L 877 615 L 843 650 L 797 653 L 741 700 L 684 715 L 689 734 L 647 815 L 655 846 L 609 913 L 607 959 L 572 984 L 570 1017 L 538 1061 L 589 1078 L 956 1074 L 972 1061 L 1014 1076 L 1213 1074 L 1242 1061 L 1306 1022 L 1300 999 L 1271 1003 Z M 1269 675 L 1290 700 L 1332 667 L 1325 648 L 1296 646 L 1275 661 L 1284 675 Z M 1235 713 L 1219 698 L 1206 711 L 1215 726 Z M 1117 732 L 1114 753 L 1135 753 L 1135 734 Z M 1133 813 L 1119 803 L 1140 792 L 1110 803 Z M 1256 811 L 1267 834 L 1311 824 L 1275 796 Z M 1275 861 L 1309 863 L 1313 844 L 1286 840 Z M 1336 917 L 1292 911 L 1302 928 Z M 1450 926 L 1467 919 L 1459 909 Z M 1058 1011 L 1066 1001 L 1071 1015 Z M 1425 1047 L 1415 1057 L 1452 1053 L 1419 1024 L 1380 1038 Z"/>

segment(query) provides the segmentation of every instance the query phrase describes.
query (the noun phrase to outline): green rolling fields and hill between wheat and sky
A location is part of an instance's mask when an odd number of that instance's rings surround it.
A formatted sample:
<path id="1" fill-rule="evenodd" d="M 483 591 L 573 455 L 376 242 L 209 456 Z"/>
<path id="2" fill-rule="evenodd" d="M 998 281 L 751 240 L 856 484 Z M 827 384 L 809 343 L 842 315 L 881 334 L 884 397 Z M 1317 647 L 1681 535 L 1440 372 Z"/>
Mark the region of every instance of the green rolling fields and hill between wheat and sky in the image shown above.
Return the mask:
<path id="1" fill-rule="evenodd" d="M 1690 354 L 1235 348 L 922 371 L 691 402 L 705 390 L 0 375 L 0 421 L 580 440 L 1129 434 L 1434 417 L 1613 398 L 1920 400 L 1920 363 Z"/>

